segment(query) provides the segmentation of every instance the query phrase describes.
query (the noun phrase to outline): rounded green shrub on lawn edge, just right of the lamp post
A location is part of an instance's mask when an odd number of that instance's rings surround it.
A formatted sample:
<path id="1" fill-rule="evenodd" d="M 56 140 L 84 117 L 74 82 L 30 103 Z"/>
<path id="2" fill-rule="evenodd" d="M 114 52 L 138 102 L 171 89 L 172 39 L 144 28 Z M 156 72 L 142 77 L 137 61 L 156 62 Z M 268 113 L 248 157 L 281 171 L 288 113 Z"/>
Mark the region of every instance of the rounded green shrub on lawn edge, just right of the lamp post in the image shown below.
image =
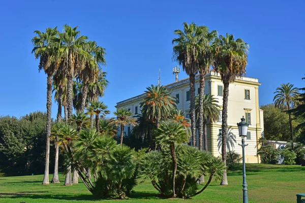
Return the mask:
<path id="1" fill-rule="evenodd" d="M 277 163 L 279 154 L 279 150 L 273 149 L 271 145 L 261 146 L 261 148 L 257 150 L 257 155 L 260 155 L 263 163 Z"/>

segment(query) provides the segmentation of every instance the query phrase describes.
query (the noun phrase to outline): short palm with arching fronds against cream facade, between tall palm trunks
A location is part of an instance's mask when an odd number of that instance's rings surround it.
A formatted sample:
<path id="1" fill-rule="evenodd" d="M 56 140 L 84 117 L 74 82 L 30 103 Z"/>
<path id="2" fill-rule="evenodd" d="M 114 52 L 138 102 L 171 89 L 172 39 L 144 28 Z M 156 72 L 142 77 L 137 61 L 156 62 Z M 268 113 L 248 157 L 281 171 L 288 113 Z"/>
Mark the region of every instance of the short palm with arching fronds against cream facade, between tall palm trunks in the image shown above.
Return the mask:
<path id="1" fill-rule="evenodd" d="M 200 118 L 200 101 L 199 97 L 196 97 L 196 106 L 195 106 L 195 112 L 196 112 L 196 118 Z M 218 120 L 219 116 L 219 101 L 217 98 L 215 98 L 213 95 L 205 94 L 202 99 L 202 107 L 203 112 L 201 113 L 203 117 L 203 140 L 204 140 L 204 149 L 207 151 L 207 133 L 206 133 L 206 124 L 209 121 L 210 123 L 214 123 Z M 202 150 L 202 134 L 199 133 L 199 150 Z"/>

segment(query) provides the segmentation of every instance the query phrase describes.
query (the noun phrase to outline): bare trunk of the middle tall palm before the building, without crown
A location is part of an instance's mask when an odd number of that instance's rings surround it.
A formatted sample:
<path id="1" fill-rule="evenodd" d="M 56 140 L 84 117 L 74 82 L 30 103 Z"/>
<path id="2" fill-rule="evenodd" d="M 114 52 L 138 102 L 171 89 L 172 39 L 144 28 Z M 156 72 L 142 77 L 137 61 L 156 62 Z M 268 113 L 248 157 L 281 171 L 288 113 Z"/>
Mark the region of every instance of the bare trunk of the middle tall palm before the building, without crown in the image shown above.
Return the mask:
<path id="1" fill-rule="evenodd" d="M 200 87 L 199 87 L 199 129 L 198 129 L 198 137 L 199 137 L 199 150 L 202 150 L 202 136 L 203 136 L 203 96 L 204 96 L 204 85 L 205 85 L 205 80 L 204 80 L 204 72 L 203 70 L 199 71 L 200 74 Z"/>

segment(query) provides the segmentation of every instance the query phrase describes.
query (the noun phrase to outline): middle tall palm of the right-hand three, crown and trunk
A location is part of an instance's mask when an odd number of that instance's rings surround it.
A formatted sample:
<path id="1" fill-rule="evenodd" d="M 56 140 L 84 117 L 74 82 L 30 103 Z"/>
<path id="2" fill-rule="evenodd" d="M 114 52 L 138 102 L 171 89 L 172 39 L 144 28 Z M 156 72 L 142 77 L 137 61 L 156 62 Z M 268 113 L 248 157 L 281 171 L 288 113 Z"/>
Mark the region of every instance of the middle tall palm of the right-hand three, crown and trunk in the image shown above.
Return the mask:
<path id="1" fill-rule="evenodd" d="M 202 39 L 200 40 L 201 51 L 199 52 L 199 108 L 197 109 L 199 112 L 198 119 L 198 136 L 199 136 L 199 149 L 202 150 L 202 137 L 205 138 L 206 141 L 206 120 L 204 120 L 204 86 L 205 86 L 205 75 L 210 71 L 210 66 L 214 60 L 214 56 L 212 54 L 212 42 L 214 42 L 217 37 L 217 31 L 213 30 L 211 32 L 208 31 L 206 26 L 199 27 L 202 31 Z M 204 123 L 205 122 L 205 123 Z M 207 143 L 205 143 L 205 150 L 207 150 Z"/>

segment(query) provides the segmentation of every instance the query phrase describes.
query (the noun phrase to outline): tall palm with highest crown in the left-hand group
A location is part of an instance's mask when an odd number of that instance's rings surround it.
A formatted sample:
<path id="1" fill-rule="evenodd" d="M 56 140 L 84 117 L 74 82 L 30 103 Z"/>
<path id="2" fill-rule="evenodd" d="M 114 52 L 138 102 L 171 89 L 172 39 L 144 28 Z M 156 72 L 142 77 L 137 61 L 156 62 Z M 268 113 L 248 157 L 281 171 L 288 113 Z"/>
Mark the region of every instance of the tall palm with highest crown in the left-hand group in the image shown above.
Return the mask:
<path id="1" fill-rule="evenodd" d="M 67 76 L 67 107 L 68 118 L 72 117 L 73 111 L 73 78 L 82 69 L 81 61 L 89 57 L 88 53 L 83 50 L 82 45 L 88 39 L 81 36 L 78 26 L 72 28 L 70 25 L 64 25 L 64 30 L 59 33 L 59 49 L 57 60 L 63 65 L 63 72 Z"/>

